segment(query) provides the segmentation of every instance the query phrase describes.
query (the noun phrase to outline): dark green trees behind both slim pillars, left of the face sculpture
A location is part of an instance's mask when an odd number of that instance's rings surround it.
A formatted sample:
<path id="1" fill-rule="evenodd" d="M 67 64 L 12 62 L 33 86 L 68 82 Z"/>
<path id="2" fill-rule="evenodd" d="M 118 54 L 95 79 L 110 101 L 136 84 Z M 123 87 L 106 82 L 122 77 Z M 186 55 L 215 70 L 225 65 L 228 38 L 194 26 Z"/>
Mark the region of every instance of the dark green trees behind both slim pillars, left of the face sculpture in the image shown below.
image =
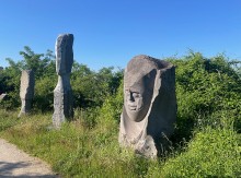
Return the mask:
<path id="1" fill-rule="evenodd" d="M 11 98 L 8 108 L 20 106 L 20 76 L 22 70 L 33 70 L 35 73 L 34 108 L 42 111 L 53 109 L 54 88 L 57 84 L 57 74 L 53 51 L 35 54 L 25 46 L 20 51 L 23 60 L 14 62 L 8 58 L 9 67 L 1 71 L 0 90 L 8 93 Z M 103 68 L 97 72 L 84 64 L 74 61 L 71 73 L 71 85 L 76 108 L 100 107 L 105 98 L 118 88 L 123 71 L 113 67 Z"/>

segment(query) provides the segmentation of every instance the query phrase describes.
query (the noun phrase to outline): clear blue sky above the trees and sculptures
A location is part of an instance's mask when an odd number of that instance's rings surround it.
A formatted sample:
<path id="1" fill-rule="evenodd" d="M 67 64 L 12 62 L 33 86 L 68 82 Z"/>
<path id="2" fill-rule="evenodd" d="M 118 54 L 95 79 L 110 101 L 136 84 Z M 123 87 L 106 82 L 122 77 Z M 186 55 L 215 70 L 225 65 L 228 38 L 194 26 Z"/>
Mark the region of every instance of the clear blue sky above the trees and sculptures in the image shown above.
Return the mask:
<path id="1" fill-rule="evenodd" d="M 0 66 L 30 46 L 55 49 L 58 34 L 74 35 L 79 63 L 125 68 L 136 55 L 241 59 L 241 0 L 1 0 Z"/>

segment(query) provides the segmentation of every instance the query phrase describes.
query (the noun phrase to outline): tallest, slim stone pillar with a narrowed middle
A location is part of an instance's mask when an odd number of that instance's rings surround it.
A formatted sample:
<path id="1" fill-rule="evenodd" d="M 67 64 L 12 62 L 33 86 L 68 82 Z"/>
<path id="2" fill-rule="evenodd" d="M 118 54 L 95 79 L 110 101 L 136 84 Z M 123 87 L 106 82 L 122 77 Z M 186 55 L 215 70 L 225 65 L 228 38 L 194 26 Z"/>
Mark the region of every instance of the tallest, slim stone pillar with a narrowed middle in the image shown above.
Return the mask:
<path id="1" fill-rule="evenodd" d="M 54 91 L 54 115 L 53 124 L 59 128 L 64 121 L 73 118 L 72 90 L 70 85 L 70 73 L 73 63 L 73 35 L 62 34 L 56 40 L 56 72 L 58 83 Z"/>

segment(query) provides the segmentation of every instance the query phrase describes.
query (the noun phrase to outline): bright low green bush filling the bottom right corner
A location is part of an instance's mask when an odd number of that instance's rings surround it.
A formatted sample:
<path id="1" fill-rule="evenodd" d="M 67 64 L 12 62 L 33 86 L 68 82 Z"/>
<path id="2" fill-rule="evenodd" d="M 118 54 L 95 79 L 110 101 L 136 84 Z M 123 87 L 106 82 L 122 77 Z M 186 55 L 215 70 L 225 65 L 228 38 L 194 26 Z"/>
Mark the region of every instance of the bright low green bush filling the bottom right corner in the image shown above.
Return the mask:
<path id="1" fill-rule="evenodd" d="M 231 129 L 206 128 L 195 134 L 181 154 L 149 177 L 240 177 L 241 138 Z"/>

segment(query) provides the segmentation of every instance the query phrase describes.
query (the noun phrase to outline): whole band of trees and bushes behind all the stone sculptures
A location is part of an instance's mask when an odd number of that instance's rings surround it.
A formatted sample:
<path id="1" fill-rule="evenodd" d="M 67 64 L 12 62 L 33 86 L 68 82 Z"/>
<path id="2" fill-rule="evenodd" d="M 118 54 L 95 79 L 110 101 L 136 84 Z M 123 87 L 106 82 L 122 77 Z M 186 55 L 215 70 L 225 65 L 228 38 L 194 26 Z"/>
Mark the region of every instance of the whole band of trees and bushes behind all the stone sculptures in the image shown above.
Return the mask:
<path id="1" fill-rule="evenodd" d="M 47 50 L 45 55 L 35 54 L 30 47 L 24 47 L 20 54 L 23 60 L 14 62 L 7 59 L 10 67 L 0 71 L 0 90 L 11 96 L 10 107 L 20 106 L 21 70 L 33 69 L 36 72 L 34 107 L 42 111 L 53 109 L 53 91 L 57 83 L 53 52 Z M 228 114 L 236 117 L 233 122 L 240 128 L 240 61 L 229 60 L 225 55 L 207 59 L 193 51 L 184 58 L 167 60 L 176 66 L 179 119 L 175 138 L 187 138 L 195 126 L 223 124 L 226 120 L 222 116 Z M 116 92 L 122 79 L 122 69 L 115 70 L 110 67 L 93 71 L 74 61 L 71 73 L 74 108 L 96 108 L 104 104 L 106 110 L 112 110 L 107 108 L 112 106 L 114 110 L 118 110 L 118 114 L 113 116 L 119 115 L 122 108 L 116 107 L 120 107 L 123 95 L 118 92 L 116 98 Z"/>

